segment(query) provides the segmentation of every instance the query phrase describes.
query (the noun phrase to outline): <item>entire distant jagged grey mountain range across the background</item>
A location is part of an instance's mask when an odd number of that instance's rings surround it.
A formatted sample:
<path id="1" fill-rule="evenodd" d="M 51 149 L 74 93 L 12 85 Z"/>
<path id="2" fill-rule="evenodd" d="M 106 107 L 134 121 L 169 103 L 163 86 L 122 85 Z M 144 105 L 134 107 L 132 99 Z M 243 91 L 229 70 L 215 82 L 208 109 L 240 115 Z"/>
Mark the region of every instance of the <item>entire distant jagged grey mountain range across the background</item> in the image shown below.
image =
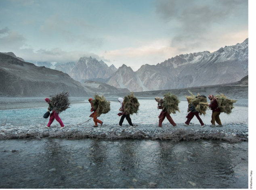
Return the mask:
<path id="1" fill-rule="evenodd" d="M 4 54 L 17 58 L 12 52 Z M 82 57 L 78 62 L 66 64 L 34 63 L 61 70 L 82 84 L 88 80 L 107 83 L 88 82 L 82 85 L 90 92 L 103 92 L 103 86 L 106 91 L 112 89 L 114 93 L 120 89 L 139 92 L 219 85 L 239 81 L 248 75 L 248 39 L 212 53 L 181 54 L 156 65 L 145 64 L 136 72 L 126 65 L 118 69 L 113 65 L 107 66 L 102 60 L 92 57 Z"/>

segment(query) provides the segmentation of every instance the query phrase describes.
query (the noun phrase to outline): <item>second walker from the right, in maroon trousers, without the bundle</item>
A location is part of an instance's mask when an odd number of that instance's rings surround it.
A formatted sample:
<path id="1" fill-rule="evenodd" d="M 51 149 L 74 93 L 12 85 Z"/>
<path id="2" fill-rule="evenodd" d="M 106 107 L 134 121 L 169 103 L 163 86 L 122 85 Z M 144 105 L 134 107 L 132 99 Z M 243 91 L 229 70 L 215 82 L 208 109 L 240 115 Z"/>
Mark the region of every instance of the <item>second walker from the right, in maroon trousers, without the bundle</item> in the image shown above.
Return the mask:
<path id="1" fill-rule="evenodd" d="M 206 99 L 206 98 L 204 98 Z M 188 107 L 188 112 L 189 114 L 187 115 L 187 121 L 185 122 L 185 126 L 189 126 L 189 122 L 192 120 L 192 118 L 194 116 L 197 117 L 197 119 L 199 120 L 200 124 L 201 124 L 201 128 L 204 127 L 204 122 L 201 120 L 200 116 L 199 116 L 199 112 L 195 109 L 195 106 L 193 105 L 193 101 L 198 101 L 198 97 L 191 97 L 191 96 L 187 96 L 187 101 L 189 103 L 189 107 Z M 206 100 L 207 101 L 207 100 Z M 199 101 L 198 101 L 199 102 Z M 197 104 L 199 105 L 199 104 Z"/>

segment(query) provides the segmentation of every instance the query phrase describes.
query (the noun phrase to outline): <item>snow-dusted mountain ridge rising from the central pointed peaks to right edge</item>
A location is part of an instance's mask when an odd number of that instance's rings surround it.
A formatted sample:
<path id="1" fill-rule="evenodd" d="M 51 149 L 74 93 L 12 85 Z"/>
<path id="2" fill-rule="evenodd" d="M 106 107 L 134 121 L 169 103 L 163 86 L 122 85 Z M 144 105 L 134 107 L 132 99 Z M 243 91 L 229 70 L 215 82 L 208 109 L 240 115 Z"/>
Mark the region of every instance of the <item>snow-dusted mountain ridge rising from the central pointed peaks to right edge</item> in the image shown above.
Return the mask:
<path id="1" fill-rule="evenodd" d="M 232 83 L 246 75 L 248 39 L 212 53 L 182 54 L 157 65 L 145 64 L 136 72 L 123 65 L 107 84 L 138 92 Z"/>

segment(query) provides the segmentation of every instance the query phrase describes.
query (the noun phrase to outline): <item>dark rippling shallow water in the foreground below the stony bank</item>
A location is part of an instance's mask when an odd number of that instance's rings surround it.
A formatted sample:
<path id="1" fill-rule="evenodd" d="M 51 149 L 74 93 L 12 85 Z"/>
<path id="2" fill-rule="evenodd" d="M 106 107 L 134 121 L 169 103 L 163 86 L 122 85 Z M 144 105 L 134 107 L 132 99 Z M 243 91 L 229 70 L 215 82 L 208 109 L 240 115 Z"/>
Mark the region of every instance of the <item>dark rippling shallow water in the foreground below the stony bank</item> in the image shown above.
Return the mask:
<path id="1" fill-rule="evenodd" d="M 248 188 L 248 142 L 0 140 L 0 188 Z"/>

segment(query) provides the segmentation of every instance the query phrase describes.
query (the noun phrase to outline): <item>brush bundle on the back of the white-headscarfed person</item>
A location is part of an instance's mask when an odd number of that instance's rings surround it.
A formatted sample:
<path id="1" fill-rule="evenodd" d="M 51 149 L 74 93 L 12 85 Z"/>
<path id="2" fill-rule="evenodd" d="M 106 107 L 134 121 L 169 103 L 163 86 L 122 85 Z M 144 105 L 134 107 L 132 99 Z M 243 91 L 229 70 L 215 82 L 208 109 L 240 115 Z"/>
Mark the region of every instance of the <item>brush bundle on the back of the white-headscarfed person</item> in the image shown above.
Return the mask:
<path id="1" fill-rule="evenodd" d="M 138 99 L 133 93 L 124 97 L 124 111 L 127 114 L 137 114 L 139 105 Z"/>

